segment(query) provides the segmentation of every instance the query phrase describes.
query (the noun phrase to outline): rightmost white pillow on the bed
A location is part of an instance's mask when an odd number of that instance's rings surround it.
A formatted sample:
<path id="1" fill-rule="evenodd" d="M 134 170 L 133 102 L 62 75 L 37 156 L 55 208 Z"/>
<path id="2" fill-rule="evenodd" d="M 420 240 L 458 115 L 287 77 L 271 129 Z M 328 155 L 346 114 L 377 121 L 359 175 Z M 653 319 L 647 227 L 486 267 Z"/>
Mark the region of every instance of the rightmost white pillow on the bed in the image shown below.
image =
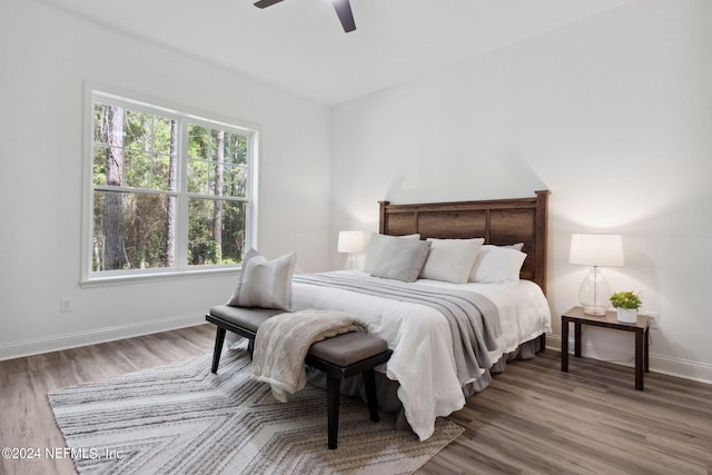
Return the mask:
<path id="1" fill-rule="evenodd" d="M 469 273 L 471 283 L 502 284 L 520 281 L 526 254 L 512 247 L 484 245 Z"/>

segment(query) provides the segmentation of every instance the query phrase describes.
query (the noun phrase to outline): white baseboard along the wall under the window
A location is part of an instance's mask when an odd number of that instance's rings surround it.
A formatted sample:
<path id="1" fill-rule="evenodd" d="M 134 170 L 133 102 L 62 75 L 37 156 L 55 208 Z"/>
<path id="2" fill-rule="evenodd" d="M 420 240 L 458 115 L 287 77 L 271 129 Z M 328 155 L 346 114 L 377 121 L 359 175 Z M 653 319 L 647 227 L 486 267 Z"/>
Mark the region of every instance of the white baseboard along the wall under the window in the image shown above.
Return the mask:
<path id="1" fill-rule="evenodd" d="M 88 331 L 76 331 L 55 335 L 44 338 L 28 339 L 0 345 L 0 362 L 39 355 L 41 353 L 59 352 L 98 343 L 113 342 L 135 336 L 149 335 L 159 331 L 191 327 L 205 323 L 204 315 L 190 315 L 159 320 L 141 321 L 140 324 L 117 325 Z"/>

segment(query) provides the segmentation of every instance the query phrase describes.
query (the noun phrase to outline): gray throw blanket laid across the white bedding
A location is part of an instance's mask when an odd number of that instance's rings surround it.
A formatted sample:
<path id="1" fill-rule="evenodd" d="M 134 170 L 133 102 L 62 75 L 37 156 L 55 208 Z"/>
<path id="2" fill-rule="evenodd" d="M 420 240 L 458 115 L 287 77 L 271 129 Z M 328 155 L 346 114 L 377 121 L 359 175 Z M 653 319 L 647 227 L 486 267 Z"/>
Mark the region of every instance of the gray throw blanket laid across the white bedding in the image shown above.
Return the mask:
<path id="1" fill-rule="evenodd" d="M 497 348 L 502 333 L 500 313 L 487 297 L 469 291 L 431 287 L 399 280 L 362 276 L 299 275 L 295 283 L 335 287 L 384 298 L 427 305 L 441 311 L 453 335 L 453 352 L 461 384 L 472 382 L 494 362 L 490 353 Z"/>

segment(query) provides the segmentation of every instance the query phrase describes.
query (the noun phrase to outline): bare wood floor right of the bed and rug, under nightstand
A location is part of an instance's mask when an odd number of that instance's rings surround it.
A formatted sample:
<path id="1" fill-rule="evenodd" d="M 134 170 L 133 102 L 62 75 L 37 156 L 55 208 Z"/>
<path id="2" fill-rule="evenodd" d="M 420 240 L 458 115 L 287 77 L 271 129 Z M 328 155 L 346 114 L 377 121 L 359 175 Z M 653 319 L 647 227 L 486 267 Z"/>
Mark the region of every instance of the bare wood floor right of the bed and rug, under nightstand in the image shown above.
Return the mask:
<path id="1" fill-rule="evenodd" d="M 515 362 L 449 418 L 465 434 L 419 474 L 712 473 L 712 385 L 560 353 Z"/>

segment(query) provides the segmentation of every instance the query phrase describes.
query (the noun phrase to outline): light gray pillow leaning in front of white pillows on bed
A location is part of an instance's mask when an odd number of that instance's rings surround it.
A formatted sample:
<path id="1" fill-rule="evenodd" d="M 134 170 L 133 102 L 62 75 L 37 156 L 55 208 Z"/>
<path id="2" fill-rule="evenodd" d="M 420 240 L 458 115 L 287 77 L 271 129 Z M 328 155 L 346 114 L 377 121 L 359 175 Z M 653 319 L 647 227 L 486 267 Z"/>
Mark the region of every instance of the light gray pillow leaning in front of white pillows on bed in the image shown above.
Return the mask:
<path id="1" fill-rule="evenodd" d="M 392 239 L 386 243 L 380 261 L 370 275 L 386 279 L 414 283 L 431 251 L 431 243 L 415 239 Z"/>

